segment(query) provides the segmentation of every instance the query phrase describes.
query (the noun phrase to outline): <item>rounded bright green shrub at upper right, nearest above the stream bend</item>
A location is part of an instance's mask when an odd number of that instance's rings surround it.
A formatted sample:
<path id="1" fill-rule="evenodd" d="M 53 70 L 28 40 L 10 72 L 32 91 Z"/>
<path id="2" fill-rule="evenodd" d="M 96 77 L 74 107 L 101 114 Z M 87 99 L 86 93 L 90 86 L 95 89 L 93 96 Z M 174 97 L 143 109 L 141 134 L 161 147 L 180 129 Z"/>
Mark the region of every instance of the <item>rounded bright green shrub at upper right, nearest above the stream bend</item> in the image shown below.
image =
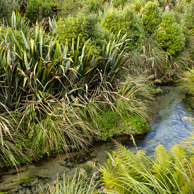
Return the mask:
<path id="1" fill-rule="evenodd" d="M 162 17 L 155 38 L 159 45 L 170 55 L 175 56 L 183 50 L 185 38 L 181 26 L 175 22 L 172 13 L 165 13 Z"/>

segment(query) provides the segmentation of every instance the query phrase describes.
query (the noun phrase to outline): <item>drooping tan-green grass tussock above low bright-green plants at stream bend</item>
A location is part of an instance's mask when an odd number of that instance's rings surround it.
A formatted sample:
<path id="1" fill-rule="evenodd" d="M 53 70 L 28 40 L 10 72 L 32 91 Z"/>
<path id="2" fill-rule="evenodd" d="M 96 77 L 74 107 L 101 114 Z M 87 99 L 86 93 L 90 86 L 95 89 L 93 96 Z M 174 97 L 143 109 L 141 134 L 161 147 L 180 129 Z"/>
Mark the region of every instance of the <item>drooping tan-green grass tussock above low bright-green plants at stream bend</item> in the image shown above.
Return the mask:
<path id="1" fill-rule="evenodd" d="M 118 111 L 125 115 L 130 112 L 149 120 L 147 104 L 153 99 L 153 89 L 144 76 L 126 77 L 119 85 L 119 96 L 116 100 Z"/>

